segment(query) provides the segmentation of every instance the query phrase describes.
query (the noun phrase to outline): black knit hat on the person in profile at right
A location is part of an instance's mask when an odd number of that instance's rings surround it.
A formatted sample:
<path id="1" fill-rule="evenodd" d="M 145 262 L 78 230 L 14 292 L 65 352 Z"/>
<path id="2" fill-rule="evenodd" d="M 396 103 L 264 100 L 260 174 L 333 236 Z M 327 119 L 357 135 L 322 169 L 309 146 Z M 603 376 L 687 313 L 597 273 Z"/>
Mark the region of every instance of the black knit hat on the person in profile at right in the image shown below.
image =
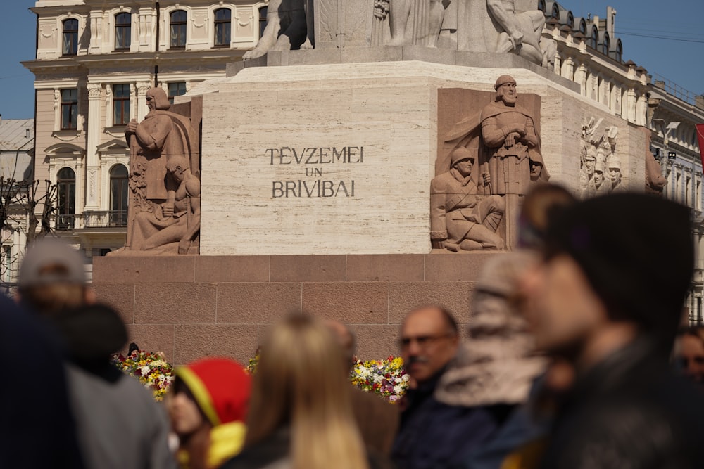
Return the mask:
<path id="1" fill-rule="evenodd" d="M 546 253 L 577 261 L 611 319 L 674 338 L 693 274 L 689 208 L 638 193 L 591 198 L 551 214 Z"/>

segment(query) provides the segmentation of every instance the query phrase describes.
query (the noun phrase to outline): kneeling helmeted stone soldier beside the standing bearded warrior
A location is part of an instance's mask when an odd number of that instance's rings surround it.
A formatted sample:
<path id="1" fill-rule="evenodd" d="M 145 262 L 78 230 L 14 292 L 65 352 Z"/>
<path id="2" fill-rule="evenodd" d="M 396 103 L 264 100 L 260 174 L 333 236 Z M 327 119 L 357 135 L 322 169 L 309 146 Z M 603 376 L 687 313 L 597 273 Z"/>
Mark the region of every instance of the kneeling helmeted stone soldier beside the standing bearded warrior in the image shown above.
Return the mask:
<path id="1" fill-rule="evenodd" d="M 467 148 L 451 154 L 451 169 L 435 176 L 430 184 L 430 239 L 433 248 L 501 250 L 503 238 L 496 233 L 504 212 L 500 195 L 479 195 L 472 179 L 476 158 Z M 489 174 L 482 174 L 484 184 Z"/>

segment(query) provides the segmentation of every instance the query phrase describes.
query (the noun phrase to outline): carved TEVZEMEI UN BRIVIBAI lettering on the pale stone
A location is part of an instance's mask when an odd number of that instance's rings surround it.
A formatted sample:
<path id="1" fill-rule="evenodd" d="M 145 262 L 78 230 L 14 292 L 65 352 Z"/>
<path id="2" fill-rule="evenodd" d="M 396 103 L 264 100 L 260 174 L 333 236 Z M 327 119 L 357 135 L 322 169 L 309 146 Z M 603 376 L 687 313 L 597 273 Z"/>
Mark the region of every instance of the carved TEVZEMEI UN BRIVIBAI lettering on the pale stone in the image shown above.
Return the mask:
<path id="1" fill-rule="evenodd" d="M 354 197 L 354 179 L 323 179 L 325 165 L 364 162 L 363 146 L 266 148 L 264 154 L 270 165 L 303 165 L 301 176 L 311 178 L 272 181 L 272 198 Z"/>

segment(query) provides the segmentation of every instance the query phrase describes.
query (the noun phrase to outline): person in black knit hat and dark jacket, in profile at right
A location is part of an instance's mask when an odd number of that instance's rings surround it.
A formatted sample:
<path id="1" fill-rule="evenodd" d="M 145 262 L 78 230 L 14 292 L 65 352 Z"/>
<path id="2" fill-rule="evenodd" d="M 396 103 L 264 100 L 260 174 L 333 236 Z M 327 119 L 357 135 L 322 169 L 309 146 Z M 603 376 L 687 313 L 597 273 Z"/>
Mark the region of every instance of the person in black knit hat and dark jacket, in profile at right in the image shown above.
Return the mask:
<path id="1" fill-rule="evenodd" d="M 667 364 L 692 272 L 682 205 L 620 193 L 553 213 L 520 282 L 536 345 L 576 373 L 542 468 L 702 467 L 700 394 Z"/>

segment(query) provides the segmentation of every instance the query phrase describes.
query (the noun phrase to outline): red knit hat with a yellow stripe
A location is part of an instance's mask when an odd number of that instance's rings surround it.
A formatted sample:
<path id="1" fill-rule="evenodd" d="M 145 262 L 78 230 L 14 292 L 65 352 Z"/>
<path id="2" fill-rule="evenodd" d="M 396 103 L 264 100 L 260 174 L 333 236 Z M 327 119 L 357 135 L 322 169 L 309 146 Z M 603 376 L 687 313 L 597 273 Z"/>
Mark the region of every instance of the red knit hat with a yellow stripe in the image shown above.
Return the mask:
<path id="1" fill-rule="evenodd" d="M 175 374 L 186 383 L 213 426 L 245 421 L 251 377 L 237 361 L 201 359 L 176 368 Z"/>

